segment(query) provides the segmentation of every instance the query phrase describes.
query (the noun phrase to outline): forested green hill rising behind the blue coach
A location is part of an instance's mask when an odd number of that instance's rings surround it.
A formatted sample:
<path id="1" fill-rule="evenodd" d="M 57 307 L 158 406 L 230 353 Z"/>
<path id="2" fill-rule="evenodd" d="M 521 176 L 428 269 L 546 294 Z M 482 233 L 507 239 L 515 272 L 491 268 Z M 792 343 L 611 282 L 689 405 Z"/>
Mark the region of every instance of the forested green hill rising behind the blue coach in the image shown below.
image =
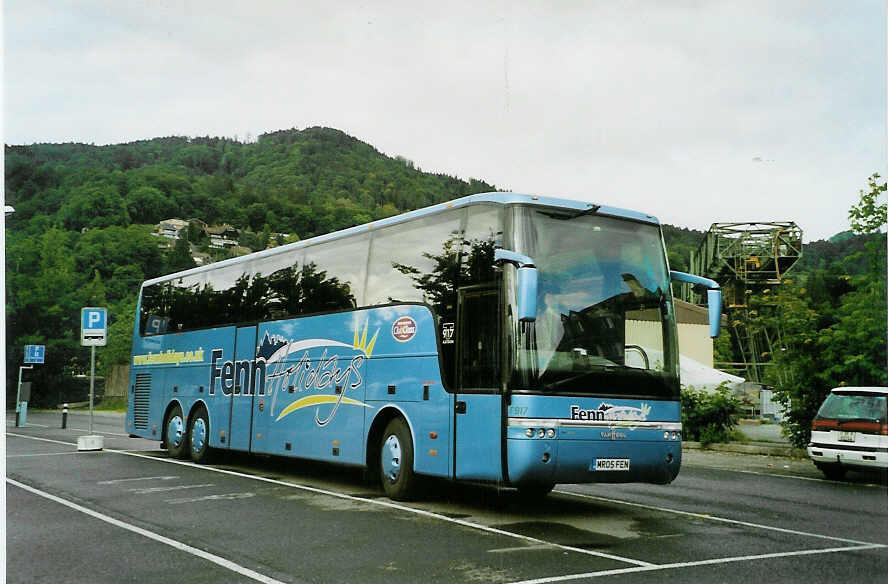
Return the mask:
<path id="1" fill-rule="evenodd" d="M 88 367 L 76 340 L 81 307 L 109 308 L 110 344 L 100 352 L 100 369 L 126 362 L 139 284 L 194 265 L 196 250 L 220 259 L 263 249 L 283 234 L 304 239 L 496 190 L 481 180 L 422 172 L 331 128 L 271 132 L 249 143 L 173 136 L 108 146 L 6 146 L 5 154 L 6 203 L 16 209 L 6 230 L 7 387 L 15 387 L 23 345 L 47 345 L 46 365 L 33 372 L 35 389 L 43 388 L 35 391 L 38 405 L 61 401 L 72 374 Z M 190 246 L 182 239 L 164 249 L 152 232 L 170 218 L 229 224 L 242 247 L 211 248 L 195 222 Z M 671 267 L 686 270 L 703 233 L 664 225 L 664 236 Z M 861 261 L 860 236 L 834 239 L 808 246 L 800 270 Z"/>

